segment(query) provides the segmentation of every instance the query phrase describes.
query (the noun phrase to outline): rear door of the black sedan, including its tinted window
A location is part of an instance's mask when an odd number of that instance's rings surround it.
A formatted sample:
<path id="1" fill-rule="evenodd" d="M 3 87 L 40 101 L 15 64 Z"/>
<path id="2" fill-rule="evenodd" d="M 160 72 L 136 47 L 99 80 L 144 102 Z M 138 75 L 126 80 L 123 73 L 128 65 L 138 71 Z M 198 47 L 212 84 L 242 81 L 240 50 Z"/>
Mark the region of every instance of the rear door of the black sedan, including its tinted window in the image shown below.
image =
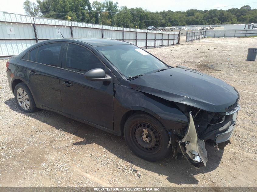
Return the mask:
<path id="1" fill-rule="evenodd" d="M 59 75 L 63 43 L 48 43 L 29 52 L 26 70 L 37 103 L 62 112 Z M 59 67 L 58 67 L 59 66 Z"/>

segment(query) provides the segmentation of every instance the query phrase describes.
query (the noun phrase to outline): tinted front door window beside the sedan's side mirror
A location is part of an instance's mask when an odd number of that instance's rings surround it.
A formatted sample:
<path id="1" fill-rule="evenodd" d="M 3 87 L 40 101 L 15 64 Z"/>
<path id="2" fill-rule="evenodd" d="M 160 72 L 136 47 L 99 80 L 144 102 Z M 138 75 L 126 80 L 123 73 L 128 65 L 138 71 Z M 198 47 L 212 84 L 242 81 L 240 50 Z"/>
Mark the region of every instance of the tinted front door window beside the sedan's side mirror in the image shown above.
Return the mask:
<path id="1" fill-rule="evenodd" d="M 95 68 L 104 69 L 104 65 L 91 51 L 79 45 L 68 45 L 66 69 L 86 73 Z"/>

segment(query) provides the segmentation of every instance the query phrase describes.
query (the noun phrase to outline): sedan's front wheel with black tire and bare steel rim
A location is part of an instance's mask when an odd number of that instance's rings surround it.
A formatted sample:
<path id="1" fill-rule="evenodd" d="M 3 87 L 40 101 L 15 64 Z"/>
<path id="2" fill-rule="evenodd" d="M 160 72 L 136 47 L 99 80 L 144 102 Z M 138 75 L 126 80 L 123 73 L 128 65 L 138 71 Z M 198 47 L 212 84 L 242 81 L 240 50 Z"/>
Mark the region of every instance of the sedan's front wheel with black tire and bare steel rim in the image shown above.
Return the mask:
<path id="1" fill-rule="evenodd" d="M 124 137 L 130 150 L 148 161 L 159 161 L 167 157 L 170 137 L 162 124 L 144 113 L 134 113 L 124 125 Z"/>

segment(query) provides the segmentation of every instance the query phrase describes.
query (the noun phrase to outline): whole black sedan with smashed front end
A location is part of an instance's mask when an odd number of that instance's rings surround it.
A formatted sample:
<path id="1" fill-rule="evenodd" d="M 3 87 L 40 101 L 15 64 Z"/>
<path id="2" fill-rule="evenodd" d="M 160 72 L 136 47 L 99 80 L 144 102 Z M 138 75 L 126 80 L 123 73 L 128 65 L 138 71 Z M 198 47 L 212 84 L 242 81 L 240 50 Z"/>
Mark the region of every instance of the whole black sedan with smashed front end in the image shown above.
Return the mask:
<path id="1" fill-rule="evenodd" d="M 124 136 L 148 161 L 180 152 L 195 167 L 205 166 L 205 141 L 229 140 L 240 109 L 239 94 L 227 83 L 168 66 L 122 41 L 47 40 L 6 67 L 20 110 L 48 109 Z"/>

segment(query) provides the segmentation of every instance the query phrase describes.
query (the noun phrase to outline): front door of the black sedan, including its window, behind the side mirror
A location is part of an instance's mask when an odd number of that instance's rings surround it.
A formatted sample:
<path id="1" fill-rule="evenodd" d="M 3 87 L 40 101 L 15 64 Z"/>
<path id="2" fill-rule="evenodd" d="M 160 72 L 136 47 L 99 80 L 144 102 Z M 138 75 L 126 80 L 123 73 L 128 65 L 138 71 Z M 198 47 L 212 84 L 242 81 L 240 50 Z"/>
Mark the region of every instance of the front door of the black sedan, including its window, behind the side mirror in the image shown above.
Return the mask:
<path id="1" fill-rule="evenodd" d="M 89 49 L 74 43 L 65 45 L 62 66 L 63 113 L 113 129 L 113 83 L 85 79 L 85 73 L 95 68 L 112 76 L 109 69 Z"/>

